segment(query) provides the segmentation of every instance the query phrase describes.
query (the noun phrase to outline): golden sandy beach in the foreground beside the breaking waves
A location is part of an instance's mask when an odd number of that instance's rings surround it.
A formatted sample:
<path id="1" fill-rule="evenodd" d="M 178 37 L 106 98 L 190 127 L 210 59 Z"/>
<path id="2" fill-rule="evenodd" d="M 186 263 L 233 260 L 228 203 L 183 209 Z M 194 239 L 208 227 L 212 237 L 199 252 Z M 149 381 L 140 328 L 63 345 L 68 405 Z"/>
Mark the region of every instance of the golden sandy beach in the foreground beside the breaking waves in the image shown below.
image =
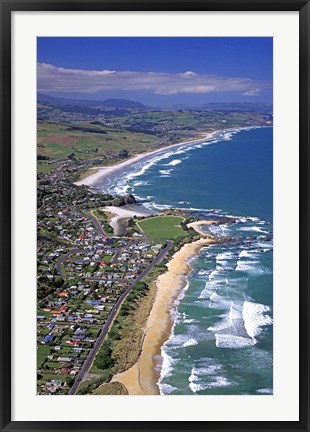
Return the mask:
<path id="1" fill-rule="evenodd" d="M 199 222 L 200 224 L 200 222 Z M 169 339 L 173 321 L 170 316 L 174 301 L 187 284 L 190 273 L 188 261 L 200 249 L 218 242 L 218 238 L 207 236 L 185 244 L 167 264 L 167 272 L 157 279 L 157 294 L 145 326 L 145 337 L 138 362 L 123 373 L 113 377 L 125 385 L 130 395 L 158 395 L 157 382 L 161 369 L 161 347 Z"/>

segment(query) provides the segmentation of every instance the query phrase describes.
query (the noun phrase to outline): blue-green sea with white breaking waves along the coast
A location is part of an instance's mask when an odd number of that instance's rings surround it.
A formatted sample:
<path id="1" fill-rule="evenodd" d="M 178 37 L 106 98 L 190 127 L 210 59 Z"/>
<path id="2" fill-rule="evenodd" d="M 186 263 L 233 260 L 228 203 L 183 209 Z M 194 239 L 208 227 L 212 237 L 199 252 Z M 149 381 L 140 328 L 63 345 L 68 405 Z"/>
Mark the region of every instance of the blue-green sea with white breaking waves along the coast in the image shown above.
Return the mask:
<path id="1" fill-rule="evenodd" d="M 178 207 L 232 242 L 203 248 L 171 311 L 161 394 L 272 394 L 273 129 L 223 131 L 131 166 L 101 188 Z M 100 187 L 100 185 L 98 185 Z"/>

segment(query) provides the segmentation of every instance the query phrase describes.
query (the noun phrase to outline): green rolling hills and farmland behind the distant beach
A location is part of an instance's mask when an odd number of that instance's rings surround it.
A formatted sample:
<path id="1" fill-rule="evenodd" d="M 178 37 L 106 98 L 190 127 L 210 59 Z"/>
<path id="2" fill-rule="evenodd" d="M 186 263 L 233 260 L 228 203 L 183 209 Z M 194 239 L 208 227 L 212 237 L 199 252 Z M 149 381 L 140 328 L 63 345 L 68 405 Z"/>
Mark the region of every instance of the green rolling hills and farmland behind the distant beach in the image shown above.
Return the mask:
<path id="1" fill-rule="evenodd" d="M 202 132 L 271 123 L 270 115 L 226 108 L 219 111 L 129 110 L 126 115 L 113 115 L 110 111 L 103 121 L 94 122 L 89 117 L 84 120 L 77 118 L 72 122 L 63 120 L 59 108 L 42 106 L 49 121 L 39 120 L 37 123 L 39 155 L 67 158 L 74 153 L 77 159 L 86 160 L 112 156 L 106 160 L 107 163 L 115 163 L 118 153 L 123 159 L 197 137 Z M 124 150 L 127 150 L 127 156 L 122 153 Z M 42 162 L 39 171 L 51 169 L 46 165 Z"/>

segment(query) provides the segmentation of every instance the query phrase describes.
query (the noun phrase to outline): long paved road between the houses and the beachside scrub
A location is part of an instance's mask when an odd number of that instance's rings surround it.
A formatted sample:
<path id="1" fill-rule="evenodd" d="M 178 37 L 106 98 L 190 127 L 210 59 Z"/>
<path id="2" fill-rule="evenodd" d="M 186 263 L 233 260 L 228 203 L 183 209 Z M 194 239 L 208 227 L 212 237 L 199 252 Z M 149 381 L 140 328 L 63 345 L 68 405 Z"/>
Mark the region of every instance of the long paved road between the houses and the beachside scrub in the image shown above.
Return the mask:
<path id="1" fill-rule="evenodd" d="M 68 394 L 69 395 L 75 395 L 78 391 L 78 388 L 81 384 L 81 382 L 84 380 L 85 375 L 90 368 L 97 351 L 99 350 L 104 338 L 106 337 L 109 328 L 117 315 L 119 308 L 122 304 L 122 302 L 125 300 L 125 298 L 128 296 L 130 291 L 133 289 L 133 287 L 136 285 L 137 282 L 139 282 L 144 276 L 157 264 L 161 263 L 161 261 L 165 258 L 168 251 L 171 249 L 173 245 L 172 241 L 167 242 L 167 246 L 157 255 L 157 257 L 144 269 L 144 271 L 135 279 L 135 281 L 126 289 L 126 291 L 123 292 L 123 294 L 118 298 L 117 302 L 115 303 L 112 311 L 110 312 L 110 315 L 107 318 L 107 321 L 101 328 L 101 332 L 98 336 L 98 339 L 96 340 L 93 348 L 89 352 L 88 356 L 86 357 L 85 362 L 83 363 L 83 366 L 80 369 L 80 372 L 77 374 L 73 386 L 70 388 Z"/>

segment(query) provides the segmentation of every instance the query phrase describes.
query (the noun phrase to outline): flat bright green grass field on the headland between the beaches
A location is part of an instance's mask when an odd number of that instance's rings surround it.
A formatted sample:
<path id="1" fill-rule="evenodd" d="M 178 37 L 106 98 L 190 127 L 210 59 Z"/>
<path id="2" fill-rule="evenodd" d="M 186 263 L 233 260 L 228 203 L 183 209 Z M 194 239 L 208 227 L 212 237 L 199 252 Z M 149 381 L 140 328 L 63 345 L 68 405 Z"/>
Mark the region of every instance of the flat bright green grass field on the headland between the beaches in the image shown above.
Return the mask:
<path id="1" fill-rule="evenodd" d="M 174 240 L 186 236 L 186 231 L 180 225 L 183 220 L 179 216 L 158 216 L 141 220 L 137 225 L 150 239 Z"/>

